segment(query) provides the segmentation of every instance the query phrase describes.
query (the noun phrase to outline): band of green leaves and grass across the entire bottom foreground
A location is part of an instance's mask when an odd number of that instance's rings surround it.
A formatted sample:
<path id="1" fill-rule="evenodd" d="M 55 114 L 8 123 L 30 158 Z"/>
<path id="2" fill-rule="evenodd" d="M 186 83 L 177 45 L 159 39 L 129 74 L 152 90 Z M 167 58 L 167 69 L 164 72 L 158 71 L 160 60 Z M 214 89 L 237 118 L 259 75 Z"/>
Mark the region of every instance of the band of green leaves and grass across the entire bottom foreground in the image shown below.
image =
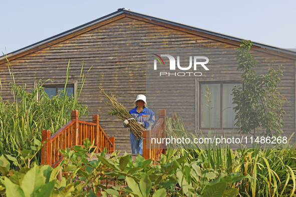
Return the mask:
<path id="1" fill-rule="evenodd" d="M 85 147 L 61 150 L 62 162 L 52 168 L 19 166 L 10 155 L 0 157 L 0 194 L 6 196 L 293 196 L 295 150 L 196 149 L 182 156 L 168 149 L 160 161 L 130 154 L 106 158 Z M 39 145 L 36 146 L 40 148 Z M 92 152 L 91 154 L 86 154 Z M 198 153 L 196 158 L 190 155 Z M 222 157 L 220 157 L 222 156 Z M 27 163 L 29 159 L 24 159 Z M 221 164 L 220 164 L 221 163 Z M 20 168 L 15 168 L 18 165 Z M 62 170 L 63 173 L 60 173 Z M 61 175 L 63 174 L 63 175 Z"/>

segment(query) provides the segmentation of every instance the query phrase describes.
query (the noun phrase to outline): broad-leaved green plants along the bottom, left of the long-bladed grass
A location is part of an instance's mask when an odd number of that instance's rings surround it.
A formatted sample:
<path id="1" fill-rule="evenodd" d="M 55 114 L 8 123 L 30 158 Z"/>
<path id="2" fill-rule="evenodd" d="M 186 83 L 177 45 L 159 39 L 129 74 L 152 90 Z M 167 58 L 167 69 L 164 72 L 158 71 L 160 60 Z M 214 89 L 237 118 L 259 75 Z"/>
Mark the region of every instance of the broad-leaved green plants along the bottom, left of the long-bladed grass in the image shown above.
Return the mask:
<path id="1" fill-rule="evenodd" d="M 74 146 L 73 150 L 61 150 L 65 157 L 56 168 L 35 164 L 16 171 L 10 169 L 10 162 L 2 155 L 0 194 L 8 197 L 95 196 L 99 193 L 103 196 L 235 196 L 238 194 L 236 182 L 250 178 L 238 172 L 218 173 L 199 159 L 186 161 L 186 155 L 174 156 L 176 150 L 168 150 L 158 164 L 141 155 L 133 161 L 127 153 L 120 157 L 114 153 L 105 158 L 106 149 L 96 155 L 97 160 L 89 161 L 86 152 L 92 150 L 92 144 L 86 139 L 84 146 L 88 148 Z M 58 175 L 60 169 L 66 172 L 63 177 Z M 115 186 L 104 186 L 108 180 Z"/>

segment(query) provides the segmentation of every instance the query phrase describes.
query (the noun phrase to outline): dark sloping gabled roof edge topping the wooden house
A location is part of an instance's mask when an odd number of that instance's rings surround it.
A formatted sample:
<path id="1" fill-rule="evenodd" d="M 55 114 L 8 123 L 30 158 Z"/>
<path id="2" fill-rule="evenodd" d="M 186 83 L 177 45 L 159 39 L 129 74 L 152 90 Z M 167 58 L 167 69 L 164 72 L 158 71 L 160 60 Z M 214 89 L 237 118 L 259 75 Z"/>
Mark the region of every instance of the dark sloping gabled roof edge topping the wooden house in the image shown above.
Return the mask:
<path id="1" fill-rule="evenodd" d="M 225 39 L 228 39 L 228 40 L 231 40 L 231 41 L 240 42 L 241 40 L 243 40 L 243 38 L 234 37 L 234 36 L 218 33 L 218 32 L 215 32 L 215 31 L 210 31 L 210 30 L 206 30 L 206 29 L 202 29 L 202 28 L 197 28 L 197 27 L 194 27 L 194 26 L 190 26 L 190 25 L 186 25 L 186 24 L 182 24 L 182 23 L 178 23 L 178 22 L 174 22 L 174 21 L 170 21 L 170 20 L 166 20 L 166 19 L 162 19 L 162 18 L 142 14 L 142 13 L 138 13 L 138 12 L 135 12 L 135 11 L 131 11 L 130 9 L 126 9 L 126 8 L 119 8 L 117 11 L 115 11 L 113 13 L 110 13 L 108 15 L 105 15 L 103 17 L 95 19 L 95 20 L 90 21 L 88 23 L 85 23 L 83 25 L 77 26 L 77 27 L 72 28 L 70 30 L 64 31 L 64 32 L 59 33 L 57 35 L 51 36 L 51 37 L 49 37 L 47 39 L 41 40 L 41 41 L 36 42 L 34 44 L 31 44 L 29 46 L 18 49 L 16 51 L 13 51 L 13 52 L 7 54 L 7 57 L 12 57 L 14 55 L 23 53 L 23 52 L 28 51 L 28 50 L 30 50 L 32 48 L 35 48 L 35 47 L 41 46 L 43 44 L 49 43 L 51 41 L 57 40 L 57 39 L 62 38 L 64 36 L 66 36 L 66 35 L 75 33 L 75 32 L 77 32 L 79 30 L 90 27 L 90 26 L 92 26 L 94 24 L 98 24 L 100 22 L 103 22 L 105 20 L 111 19 L 111 18 L 113 18 L 115 16 L 118 16 L 118 15 L 121 15 L 121 14 L 124 14 L 124 13 L 144 17 L 144 18 L 147 18 L 147 19 L 155 20 L 155 21 L 158 21 L 158 22 L 163 22 L 163 23 L 166 23 L 166 24 L 171 24 L 171 25 L 174 25 L 174 26 L 190 29 L 190 30 L 193 30 L 193 31 L 201 32 L 201 33 L 206 33 L 206 34 L 209 34 L 209 35 L 212 35 L 212 36 L 218 36 L 218 37 L 225 38 Z M 289 49 L 284 49 L 284 48 L 280 48 L 280 47 L 276 47 L 276 46 L 266 45 L 266 44 L 259 43 L 259 42 L 253 42 L 253 45 L 258 46 L 260 48 L 267 48 L 267 49 L 272 49 L 272 50 L 275 50 L 275 51 L 278 51 L 278 52 L 283 52 L 283 53 L 287 53 L 287 54 L 291 54 L 291 55 L 296 55 L 296 51 L 289 50 Z M 3 59 L 5 59 L 5 57 L 0 56 L 0 60 L 3 60 Z"/>

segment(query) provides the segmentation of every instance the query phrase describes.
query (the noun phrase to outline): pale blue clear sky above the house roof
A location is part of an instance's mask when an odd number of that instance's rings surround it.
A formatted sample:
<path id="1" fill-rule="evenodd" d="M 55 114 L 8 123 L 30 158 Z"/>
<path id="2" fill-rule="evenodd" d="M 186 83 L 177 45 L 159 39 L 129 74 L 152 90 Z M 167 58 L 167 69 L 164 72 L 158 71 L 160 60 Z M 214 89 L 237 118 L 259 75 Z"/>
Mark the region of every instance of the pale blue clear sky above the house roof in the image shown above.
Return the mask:
<path id="1" fill-rule="evenodd" d="M 122 7 L 267 45 L 296 48 L 296 0 L 1 1 L 0 49 L 4 53 Z"/>

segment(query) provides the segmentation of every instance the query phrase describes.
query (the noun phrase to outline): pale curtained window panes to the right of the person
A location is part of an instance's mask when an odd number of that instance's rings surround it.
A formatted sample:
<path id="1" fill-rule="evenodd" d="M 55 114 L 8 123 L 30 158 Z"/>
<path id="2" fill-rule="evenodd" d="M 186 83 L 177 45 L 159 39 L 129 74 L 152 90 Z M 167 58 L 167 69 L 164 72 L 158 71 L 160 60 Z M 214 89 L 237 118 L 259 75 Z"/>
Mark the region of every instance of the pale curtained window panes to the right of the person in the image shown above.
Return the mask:
<path id="1" fill-rule="evenodd" d="M 232 89 L 234 85 L 241 86 L 239 82 L 200 82 L 199 83 L 199 127 L 233 129 L 234 105 L 232 104 Z M 209 100 L 206 87 L 211 93 Z M 210 102 L 209 102 L 210 101 Z"/>

